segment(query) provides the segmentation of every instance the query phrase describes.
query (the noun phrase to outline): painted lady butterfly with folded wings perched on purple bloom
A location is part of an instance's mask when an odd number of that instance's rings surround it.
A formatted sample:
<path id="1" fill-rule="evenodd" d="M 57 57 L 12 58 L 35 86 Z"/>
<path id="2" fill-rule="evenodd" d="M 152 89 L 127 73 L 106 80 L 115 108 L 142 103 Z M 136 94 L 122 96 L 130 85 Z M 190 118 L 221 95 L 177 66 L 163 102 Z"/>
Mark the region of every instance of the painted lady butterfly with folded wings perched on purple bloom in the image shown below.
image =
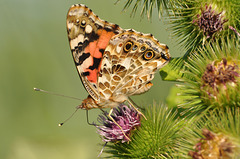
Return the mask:
<path id="1" fill-rule="evenodd" d="M 128 97 L 148 91 L 155 72 L 170 60 L 168 47 L 151 34 L 124 30 L 82 4 L 69 9 L 67 32 L 77 71 L 89 93 L 79 108 L 112 108 L 111 119 L 113 108 L 125 101 L 133 106 Z"/>

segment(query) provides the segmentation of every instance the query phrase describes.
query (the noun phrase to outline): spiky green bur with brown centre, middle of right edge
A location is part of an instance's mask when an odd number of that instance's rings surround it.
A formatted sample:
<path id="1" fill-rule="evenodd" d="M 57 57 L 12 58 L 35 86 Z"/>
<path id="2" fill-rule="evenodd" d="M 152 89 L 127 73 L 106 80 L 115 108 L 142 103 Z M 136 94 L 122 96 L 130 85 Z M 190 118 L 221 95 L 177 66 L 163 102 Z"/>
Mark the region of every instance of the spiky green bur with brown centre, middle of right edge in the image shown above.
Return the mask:
<path id="1" fill-rule="evenodd" d="M 185 62 L 180 107 L 197 112 L 240 106 L 240 46 L 232 39 L 210 43 Z"/>

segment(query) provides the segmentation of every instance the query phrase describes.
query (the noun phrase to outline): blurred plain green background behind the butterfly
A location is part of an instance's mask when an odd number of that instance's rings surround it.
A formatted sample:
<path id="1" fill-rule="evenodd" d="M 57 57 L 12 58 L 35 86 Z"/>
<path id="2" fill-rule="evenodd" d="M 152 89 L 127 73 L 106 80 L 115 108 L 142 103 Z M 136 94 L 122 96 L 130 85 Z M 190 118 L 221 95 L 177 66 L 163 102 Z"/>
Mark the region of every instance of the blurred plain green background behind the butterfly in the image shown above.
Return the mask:
<path id="1" fill-rule="evenodd" d="M 152 33 L 180 55 L 176 41 L 167 26 L 158 20 L 141 19 L 131 10 L 121 12 L 124 0 L 1 0 L 0 1 L 0 158 L 1 159 L 80 159 L 96 158 L 102 143 L 93 126 L 86 122 L 84 110 L 63 127 L 62 122 L 81 101 L 34 92 L 38 87 L 74 96 L 87 97 L 75 69 L 66 33 L 66 13 L 75 3 L 86 4 L 100 18 Z M 171 82 L 163 82 L 159 74 L 154 87 L 133 97 L 139 105 L 164 101 Z M 99 110 L 90 111 L 96 121 Z M 103 155 L 104 156 L 104 155 Z"/>

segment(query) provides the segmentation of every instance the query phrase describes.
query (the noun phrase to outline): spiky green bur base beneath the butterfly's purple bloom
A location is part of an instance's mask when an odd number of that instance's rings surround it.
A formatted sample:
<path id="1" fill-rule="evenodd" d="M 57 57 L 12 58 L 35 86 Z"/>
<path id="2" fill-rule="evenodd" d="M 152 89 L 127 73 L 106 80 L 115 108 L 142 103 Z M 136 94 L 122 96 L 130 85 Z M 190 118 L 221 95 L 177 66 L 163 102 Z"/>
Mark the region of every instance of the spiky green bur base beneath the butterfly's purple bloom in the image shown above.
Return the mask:
<path id="1" fill-rule="evenodd" d="M 164 105 L 147 108 L 147 120 L 134 132 L 128 143 L 109 143 L 104 150 L 110 158 L 172 158 L 179 132 L 187 123 L 177 112 Z"/>

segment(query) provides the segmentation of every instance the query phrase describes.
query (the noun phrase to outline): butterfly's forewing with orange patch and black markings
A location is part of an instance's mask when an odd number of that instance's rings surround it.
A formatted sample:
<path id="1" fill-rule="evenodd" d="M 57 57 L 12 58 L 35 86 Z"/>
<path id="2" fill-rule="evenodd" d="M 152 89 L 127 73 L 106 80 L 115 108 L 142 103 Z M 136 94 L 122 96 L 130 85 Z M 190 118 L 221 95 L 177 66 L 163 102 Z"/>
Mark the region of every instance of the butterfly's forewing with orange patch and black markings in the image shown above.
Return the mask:
<path id="1" fill-rule="evenodd" d="M 67 14 L 67 32 L 72 56 L 88 93 L 99 99 L 98 72 L 110 39 L 122 32 L 112 23 L 101 20 L 85 5 L 73 5 Z"/>

